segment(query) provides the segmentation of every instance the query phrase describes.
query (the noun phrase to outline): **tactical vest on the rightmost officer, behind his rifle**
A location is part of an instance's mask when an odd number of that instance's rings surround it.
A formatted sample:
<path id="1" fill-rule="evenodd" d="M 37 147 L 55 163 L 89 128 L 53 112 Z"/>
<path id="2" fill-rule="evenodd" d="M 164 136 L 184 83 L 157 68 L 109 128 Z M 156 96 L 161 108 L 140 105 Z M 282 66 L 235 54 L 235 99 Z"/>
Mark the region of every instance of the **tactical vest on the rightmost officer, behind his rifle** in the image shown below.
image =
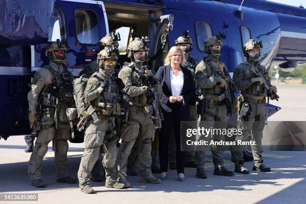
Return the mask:
<path id="1" fill-rule="evenodd" d="M 248 62 L 243 62 L 244 65 L 244 78 L 243 80 L 250 80 L 256 78 L 265 72 L 264 66 L 256 64 L 254 70 L 251 69 L 251 64 Z M 252 83 L 248 88 L 241 90 L 241 94 L 252 94 L 252 95 L 263 95 L 264 85 L 259 85 L 258 82 Z"/>

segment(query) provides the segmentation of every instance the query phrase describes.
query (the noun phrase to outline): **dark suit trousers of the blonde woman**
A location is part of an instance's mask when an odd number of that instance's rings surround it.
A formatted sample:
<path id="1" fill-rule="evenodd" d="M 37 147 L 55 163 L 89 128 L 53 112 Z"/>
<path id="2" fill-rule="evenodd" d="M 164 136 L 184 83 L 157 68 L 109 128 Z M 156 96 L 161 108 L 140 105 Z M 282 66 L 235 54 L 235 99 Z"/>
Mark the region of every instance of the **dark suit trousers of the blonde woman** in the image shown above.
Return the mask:
<path id="1" fill-rule="evenodd" d="M 177 173 L 184 173 L 184 165 L 186 152 L 180 151 L 180 121 L 188 121 L 190 119 L 190 112 L 179 112 L 179 103 L 171 104 L 172 112 L 163 111 L 163 121 L 161 122 L 161 130 L 158 137 L 158 152 L 160 171 L 168 171 L 168 151 L 170 132 L 173 126 L 174 137 L 176 142 L 176 171 Z"/>

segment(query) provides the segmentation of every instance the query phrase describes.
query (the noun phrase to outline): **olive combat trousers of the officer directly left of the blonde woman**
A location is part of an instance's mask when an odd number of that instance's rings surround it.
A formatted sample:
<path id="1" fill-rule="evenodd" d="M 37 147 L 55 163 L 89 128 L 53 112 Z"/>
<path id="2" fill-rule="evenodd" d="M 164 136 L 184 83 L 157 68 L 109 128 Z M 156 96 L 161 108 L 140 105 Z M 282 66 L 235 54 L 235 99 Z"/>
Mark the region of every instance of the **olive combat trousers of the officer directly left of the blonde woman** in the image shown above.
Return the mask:
<path id="1" fill-rule="evenodd" d="M 137 157 L 137 164 L 140 170 L 140 177 L 147 177 L 151 172 L 151 148 L 155 128 L 151 114 L 145 112 L 142 107 L 131 107 L 128 115 L 128 122 L 123 123 L 120 135 L 121 145 L 117 156 L 117 168 L 119 173 L 126 175 L 128 156 L 134 144 L 136 149 L 132 157 Z M 137 138 L 138 137 L 138 138 Z M 137 138 L 137 143 L 135 143 Z"/>

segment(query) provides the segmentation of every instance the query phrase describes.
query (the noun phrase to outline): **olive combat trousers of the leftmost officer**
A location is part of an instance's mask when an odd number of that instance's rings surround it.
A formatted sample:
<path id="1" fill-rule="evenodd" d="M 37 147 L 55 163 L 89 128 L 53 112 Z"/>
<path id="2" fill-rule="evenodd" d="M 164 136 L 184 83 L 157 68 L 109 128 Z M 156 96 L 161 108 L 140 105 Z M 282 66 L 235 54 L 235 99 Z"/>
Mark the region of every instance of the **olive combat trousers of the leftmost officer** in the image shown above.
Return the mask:
<path id="1" fill-rule="evenodd" d="M 53 118 L 41 118 L 42 128 L 37 133 L 33 152 L 28 161 L 28 175 L 31 180 L 41 179 L 41 164 L 44 155 L 48 150 L 48 143 L 54 138 L 54 156 L 56 178 L 63 178 L 68 175 L 67 170 L 67 151 L 69 139 L 69 129 L 56 129 Z"/>

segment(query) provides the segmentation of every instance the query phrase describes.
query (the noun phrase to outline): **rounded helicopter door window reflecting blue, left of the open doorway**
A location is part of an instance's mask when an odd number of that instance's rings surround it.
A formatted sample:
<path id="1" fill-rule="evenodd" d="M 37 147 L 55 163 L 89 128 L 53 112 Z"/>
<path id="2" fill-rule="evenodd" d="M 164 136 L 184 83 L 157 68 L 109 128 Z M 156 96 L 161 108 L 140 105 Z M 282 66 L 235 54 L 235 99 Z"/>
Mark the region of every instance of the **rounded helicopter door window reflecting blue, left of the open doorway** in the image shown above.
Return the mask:
<path id="1" fill-rule="evenodd" d="M 82 44 L 96 44 L 99 40 L 96 14 L 91 10 L 75 9 L 74 19 L 77 40 Z"/>

